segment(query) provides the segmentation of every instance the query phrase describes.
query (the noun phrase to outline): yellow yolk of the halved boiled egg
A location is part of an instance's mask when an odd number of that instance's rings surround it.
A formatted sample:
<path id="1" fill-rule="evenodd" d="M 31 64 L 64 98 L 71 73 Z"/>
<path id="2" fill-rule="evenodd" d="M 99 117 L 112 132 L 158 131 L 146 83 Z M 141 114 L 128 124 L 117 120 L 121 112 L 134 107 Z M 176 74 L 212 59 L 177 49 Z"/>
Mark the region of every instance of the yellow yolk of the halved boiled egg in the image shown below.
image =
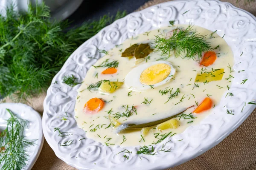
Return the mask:
<path id="1" fill-rule="evenodd" d="M 143 85 L 154 85 L 166 79 L 170 72 L 171 66 L 168 64 L 151 65 L 140 74 L 140 82 Z"/>

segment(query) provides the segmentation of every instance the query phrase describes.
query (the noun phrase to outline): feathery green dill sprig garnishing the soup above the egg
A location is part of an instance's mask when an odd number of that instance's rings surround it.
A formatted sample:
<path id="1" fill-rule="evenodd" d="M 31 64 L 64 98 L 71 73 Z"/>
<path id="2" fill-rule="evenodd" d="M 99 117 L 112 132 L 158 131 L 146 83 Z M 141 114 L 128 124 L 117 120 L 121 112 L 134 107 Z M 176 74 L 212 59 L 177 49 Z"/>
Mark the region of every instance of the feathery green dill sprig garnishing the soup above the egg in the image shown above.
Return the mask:
<path id="1" fill-rule="evenodd" d="M 198 34 L 191 25 L 186 29 L 177 27 L 173 31 L 172 37 L 168 39 L 163 34 L 157 35 L 153 44 L 154 48 L 162 55 L 167 55 L 166 59 L 170 57 L 170 51 L 175 50 L 176 57 L 185 54 L 185 57 L 195 59 L 195 55 L 198 55 L 198 60 L 200 60 L 204 51 L 212 50 L 209 42 L 206 42 L 205 36 Z"/>

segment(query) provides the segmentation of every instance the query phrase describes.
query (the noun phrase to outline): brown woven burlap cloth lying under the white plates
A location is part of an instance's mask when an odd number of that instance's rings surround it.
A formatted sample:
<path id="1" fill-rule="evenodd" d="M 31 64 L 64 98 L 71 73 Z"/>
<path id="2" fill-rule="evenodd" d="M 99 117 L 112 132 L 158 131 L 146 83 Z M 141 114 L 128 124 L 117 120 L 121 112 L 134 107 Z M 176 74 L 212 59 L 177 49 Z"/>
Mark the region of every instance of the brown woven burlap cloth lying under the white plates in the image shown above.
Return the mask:
<path id="1" fill-rule="evenodd" d="M 137 11 L 167 1 L 169 0 L 151 0 Z M 238 3 L 236 0 L 226 1 L 256 15 L 256 2 L 249 4 L 244 3 L 247 0 L 239 0 Z M 29 105 L 41 114 L 44 111 L 45 95 L 44 93 L 29 99 Z M 6 102 L 11 101 L 6 99 Z M 42 152 L 32 170 L 76 170 L 76 168 L 58 159 L 49 144 L 44 141 Z M 169 170 L 256 170 L 256 109 L 220 144 L 201 156 Z"/>

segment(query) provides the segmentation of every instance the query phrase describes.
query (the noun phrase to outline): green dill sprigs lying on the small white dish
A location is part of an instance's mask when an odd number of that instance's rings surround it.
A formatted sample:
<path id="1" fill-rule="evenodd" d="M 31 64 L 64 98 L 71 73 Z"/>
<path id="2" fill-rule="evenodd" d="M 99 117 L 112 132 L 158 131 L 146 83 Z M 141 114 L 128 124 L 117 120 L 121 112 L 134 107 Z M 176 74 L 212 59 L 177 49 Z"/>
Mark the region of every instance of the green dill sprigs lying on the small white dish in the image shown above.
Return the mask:
<path id="1" fill-rule="evenodd" d="M 28 161 L 26 147 L 34 145 L 35 140 L 23 136 L 28 122 L 6 110 L 11 117 L 7 120 L 6 130 L 0 134 L 0 167 L 1 170 L 22 170 Z"/>

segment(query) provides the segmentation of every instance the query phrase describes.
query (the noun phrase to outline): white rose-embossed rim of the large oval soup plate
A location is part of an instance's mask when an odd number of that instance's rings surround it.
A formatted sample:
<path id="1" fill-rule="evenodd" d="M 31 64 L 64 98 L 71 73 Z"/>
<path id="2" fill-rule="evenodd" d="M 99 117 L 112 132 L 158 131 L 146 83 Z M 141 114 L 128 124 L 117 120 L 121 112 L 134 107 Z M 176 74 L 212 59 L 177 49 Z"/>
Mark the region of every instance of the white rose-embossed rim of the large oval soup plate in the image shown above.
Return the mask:
<path id="1" fill-rule="evenodd" d="M 168 26 L 169 20 L 175 20 L 176 24 L 193 23 L 211 31 L 218 30 L 217 34 L 224 36 L 233 50 L 235 78 L 220 104 L 212 109 L 212 114 L 202 120 L 199 125 L 188 127 L 183 133 L 163 142 L 171 140 L 165 148 L 170 148 L 172 152 L 159 152 L 154 156 L 141 155 L 140 159 L 136 154 L 139 146 L 125 147 L 132 151 L 126 154 L 129 156 L 127 160 L 123 154 L 116 155 L 123 148 L 103 146 L 99 142 L 86 138 L 84 130 L 76 125 L 73 118 L 76 90 L 79 85 L 71 88 L 61 81 L 65 75 L 73 74 L 81 82 L 90 66 L 96 62 L 96 59 L 103 56 L 97 48 L 108 51 L 131 36 Z M 159 170 L 177 166 L 201 155 L 233 132 L 255 108 L 255 105 L 247 104 L 254 101 L 256 97 L 255 30 L 256 18 L 252 14 L 230 3 L 217 0 L 171 1 L 151 6 L 117 20 L 84 42 L 54 77 L 44 100 L 43 131 L 47 142 L 60 159 L 81 170 L 119 170 L 120 168 Z M 243 84 L 245 79 L 247 81 Z M 225 97 L 228 92 L 233 93 L 234 96 Z M 227 109 L 232 109 L 234 115 L 227 114 Z M 69 116 L 67 121 L 61 120 L 65 112 Z M 61 138 L 54 132 L 55 127 L 60 127 L 61 130 L 73 135 Z M 85 139 L 79 141 L 81 138 Z M 73 140 L 70 146 L 60 146 L 60 143 L 70 140 Z M 160 150 L 162 143 L 154 147 L 155 150 Z"/>

